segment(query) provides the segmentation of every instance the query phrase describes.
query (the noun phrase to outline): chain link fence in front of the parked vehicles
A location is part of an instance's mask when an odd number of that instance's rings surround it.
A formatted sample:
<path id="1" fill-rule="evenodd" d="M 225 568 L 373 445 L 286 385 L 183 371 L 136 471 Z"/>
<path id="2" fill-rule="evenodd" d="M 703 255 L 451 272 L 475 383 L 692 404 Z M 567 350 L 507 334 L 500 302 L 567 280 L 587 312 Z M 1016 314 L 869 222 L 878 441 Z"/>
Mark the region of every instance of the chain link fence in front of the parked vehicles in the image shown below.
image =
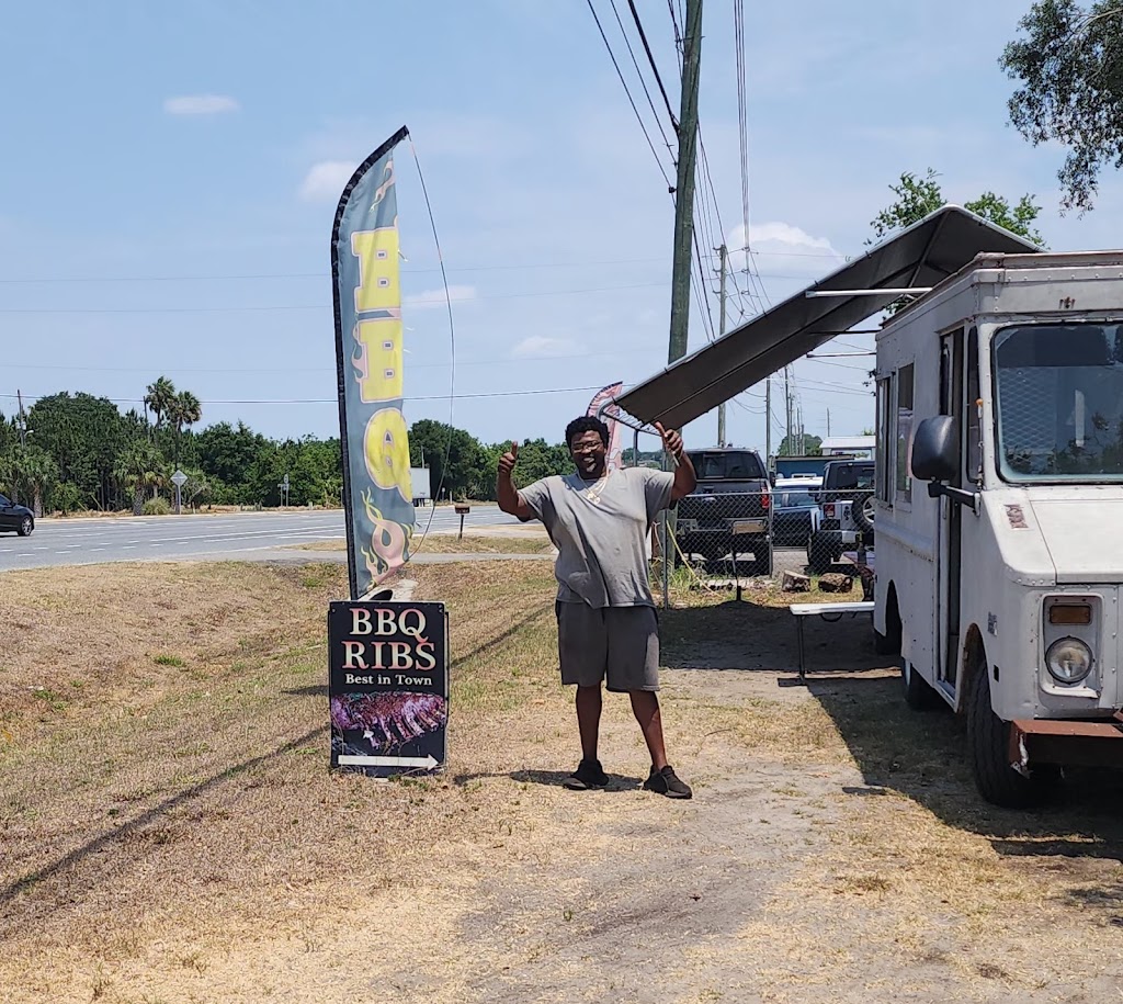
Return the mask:
<path id="1" fill-rule="evenodd" d="M 740 588 L 752 579 L 809 591 L 824 575 L 841 592 L 869 596 L 875 518 L 871 491 L 789 485 L 687 495 L 654 531 L 664 602 L 672 588 Z"/>

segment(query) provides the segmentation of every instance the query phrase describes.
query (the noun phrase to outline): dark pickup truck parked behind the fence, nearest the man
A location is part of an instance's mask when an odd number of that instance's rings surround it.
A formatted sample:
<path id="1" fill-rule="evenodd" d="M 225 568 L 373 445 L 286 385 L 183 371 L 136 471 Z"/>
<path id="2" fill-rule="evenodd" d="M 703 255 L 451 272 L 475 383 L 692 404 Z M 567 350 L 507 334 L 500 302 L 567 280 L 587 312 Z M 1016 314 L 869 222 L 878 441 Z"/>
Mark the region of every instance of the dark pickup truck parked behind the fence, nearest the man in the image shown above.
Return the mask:
<path id="1" fill-rule="evenodd" d="M 678 502 L 676 539 L 682 553 L 738 563 L 751 554 L 749 574 L 772 575 L 772 493 L 759 455 L 739 447 L 687 453 L 699 483 Z"/>

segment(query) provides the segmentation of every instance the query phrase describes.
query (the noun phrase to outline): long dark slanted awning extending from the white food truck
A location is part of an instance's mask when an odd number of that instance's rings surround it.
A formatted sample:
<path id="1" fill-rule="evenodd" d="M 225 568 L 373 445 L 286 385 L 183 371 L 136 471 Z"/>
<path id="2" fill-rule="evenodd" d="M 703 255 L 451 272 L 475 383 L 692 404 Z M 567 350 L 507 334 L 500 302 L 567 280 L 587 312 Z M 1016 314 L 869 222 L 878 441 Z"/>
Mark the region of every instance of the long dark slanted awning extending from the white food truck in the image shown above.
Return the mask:
<path id="1" fill-rule="evenodd" d="M 806 292 L 934 286 L 983 252 L 1035 250 L 1029 240 L 966 209 L 944 206 L 632 387 L 618 403 L 642 421 L 682 428 L 898 299 L 894 293 L 809 298 Z"/>

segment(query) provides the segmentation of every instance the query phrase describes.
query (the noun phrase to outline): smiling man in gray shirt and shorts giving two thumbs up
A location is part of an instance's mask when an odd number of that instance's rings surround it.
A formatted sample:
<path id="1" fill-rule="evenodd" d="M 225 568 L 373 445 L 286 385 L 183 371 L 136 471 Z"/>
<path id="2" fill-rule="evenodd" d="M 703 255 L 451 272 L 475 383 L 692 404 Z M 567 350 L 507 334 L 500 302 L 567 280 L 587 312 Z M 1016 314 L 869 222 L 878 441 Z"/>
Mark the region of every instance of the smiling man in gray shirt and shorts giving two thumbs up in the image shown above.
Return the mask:
<path id="1" fill-rule="evenodd" d="M 609 778 L 597 759 L 601 683 L 627 693 L 651 754 L 643 787 L 670 798 L 691 788 L 667 763 L 659 713 L 659 623 L 648 582 L 647 535 L 656 514 L 694 491 L 696 478 L 683 438 L 656 430 L 675 458 L 674 473 L 648 467 L 610 471 L 609 428 L 584 416 L 569 422 L 566 445 L 576 474 L 544 477 L 521 492 L 511 473 L 519 444 L 499 462 L 496 495 L 503 512 L 539 519 L 558 549 L 558 655 L 562 682 L 577 687 L 582 759 L 565 779 L 575 791 L 603 788 Z"/>

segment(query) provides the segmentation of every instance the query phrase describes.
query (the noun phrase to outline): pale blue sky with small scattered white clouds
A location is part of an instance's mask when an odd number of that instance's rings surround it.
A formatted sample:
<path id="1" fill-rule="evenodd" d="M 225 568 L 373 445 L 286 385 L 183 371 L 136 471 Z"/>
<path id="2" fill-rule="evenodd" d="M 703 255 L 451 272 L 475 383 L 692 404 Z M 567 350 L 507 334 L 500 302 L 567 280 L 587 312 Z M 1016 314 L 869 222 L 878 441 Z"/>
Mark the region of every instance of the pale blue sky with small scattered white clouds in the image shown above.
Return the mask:
<path id="1" fill-rule="evenodd" d="M 633 82 L 609 0 L 594 6 Z M 667 3 L 638 7 L 677 108 Z M 733 3 L 705 8 L 702 136 L 721 216 L 707 234 L 738 247 Z M 1105 177 L 1095 211 L 1062 218 L 1063 150 L 1005 125 L 997 57 L 1028 9 L 746 4 L 750 234 L 768 299 L 860 253 L 906 170 L 935 167 L 952 201 L 1034 193 L 1053 248 L 1117 244 L 1120 179 Z M 585 0 L 61 0 L 9 4 L 4 18 L 6 414 L 17 389 L 86 391 L 125 410 L 165 374 L 202 400 L 202 426 L 337 435 L 332 215 L 350 167 L 403 124 L 456 299 L 450 407 L 438 261 L 400 147 L 409 420 L 557 440 L 584 389 L 664 365 L 673 209 Z M 756 307 L 734 298 L 731 318 Z M 695 310 L 692 350 L 705 337 Z M 871 423 L 866 368 L 796 364 L 807 431 L 825 432 L 828 410 L 836 435 Z M 763 447 L 763 411 L 759 389 L 739 399 L 730 438 Z M 782 432 L 774 423 L 774 444 Z M 686 437 L 712 442 L 714 418 Z"/>

